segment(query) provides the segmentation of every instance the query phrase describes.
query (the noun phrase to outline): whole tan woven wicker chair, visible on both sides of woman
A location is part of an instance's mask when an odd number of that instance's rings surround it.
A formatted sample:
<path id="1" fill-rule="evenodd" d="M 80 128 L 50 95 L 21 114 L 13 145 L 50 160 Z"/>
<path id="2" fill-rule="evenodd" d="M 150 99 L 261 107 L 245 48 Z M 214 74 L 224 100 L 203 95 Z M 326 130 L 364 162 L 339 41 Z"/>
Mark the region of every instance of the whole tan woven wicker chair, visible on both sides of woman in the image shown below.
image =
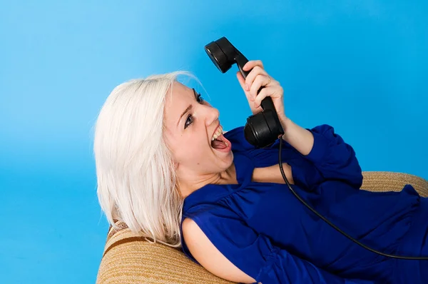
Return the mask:
<path id="1" fill-rule="evenodd" d="M 406 173 L 364 172 L 362 189 L 400 191 L 411 184 L 428 196 L 428 181 Z M 220 279 L 192 261 L 181 250 L 149 243 L 131 233 L 125 224 L 110 230 L 98 270 L 97 284 L 137 283 L 231 283 Z"/>

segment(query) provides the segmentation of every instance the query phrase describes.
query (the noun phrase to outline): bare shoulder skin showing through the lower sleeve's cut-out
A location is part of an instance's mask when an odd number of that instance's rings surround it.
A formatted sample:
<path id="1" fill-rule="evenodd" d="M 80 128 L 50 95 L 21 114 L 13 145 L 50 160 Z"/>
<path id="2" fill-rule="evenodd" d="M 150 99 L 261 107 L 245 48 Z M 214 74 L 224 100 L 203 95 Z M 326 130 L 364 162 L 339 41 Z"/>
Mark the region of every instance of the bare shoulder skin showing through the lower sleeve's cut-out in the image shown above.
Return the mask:
<path id="1" fill-rule="evenodd" d="M 183 220 L 183 238 L 193 258 L 206 270 L 220 278 L 238 282 L 255 283 L 249 275 L 243 273 L 210 241 L 203 230 L 191 218 Z"/>

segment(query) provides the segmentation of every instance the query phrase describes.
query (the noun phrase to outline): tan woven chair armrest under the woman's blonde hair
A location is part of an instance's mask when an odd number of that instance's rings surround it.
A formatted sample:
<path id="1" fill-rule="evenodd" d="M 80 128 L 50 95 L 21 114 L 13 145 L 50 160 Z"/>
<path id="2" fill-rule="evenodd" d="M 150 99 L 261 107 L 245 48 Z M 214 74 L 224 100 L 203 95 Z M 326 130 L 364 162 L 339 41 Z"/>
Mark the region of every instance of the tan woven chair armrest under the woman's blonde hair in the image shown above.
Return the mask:
<path id="1" fill-rule="evenodd" d="M 181 250 L 151 243 L 118 225 L 119 230 L 108 233 L 96 284 L 231 283 L 193 263 Z"/>

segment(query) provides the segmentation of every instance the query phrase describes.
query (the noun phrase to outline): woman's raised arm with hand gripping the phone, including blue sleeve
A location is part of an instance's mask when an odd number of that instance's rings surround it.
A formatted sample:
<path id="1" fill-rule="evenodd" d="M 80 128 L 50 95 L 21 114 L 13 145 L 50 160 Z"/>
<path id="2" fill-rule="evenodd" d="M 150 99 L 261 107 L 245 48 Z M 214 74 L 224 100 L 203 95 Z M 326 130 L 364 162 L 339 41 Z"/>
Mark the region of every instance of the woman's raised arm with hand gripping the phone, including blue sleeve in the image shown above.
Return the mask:
<path id="1" fill-rule="evenodd" d="M 280 82 L 274 80 L 265 71 L 262 61 L 248 61 L 243 70 L 250 71 L 250 73 L 244 79 L 238 72 L 238 81 L 243 87 L 253 114 L 262 111 L 261 101 L 270 96 L 285 131 L 282 138 L 302 156 L 312 161 L 315 169 L 319 171 L 319 173 L 315 171 L 309 173 L 315 178 L 301 174 L 305 180 L 302 183 L 305 183 L 307 187 L 312 187 L 326 179 L 333 179 L 349 183 L 354 188 L 360 188 L 362 173 L 352 147 L 347 145 L 340 136 L 327 129 L 330 126 L 307 130 L 292 123 L 285 116 L 284 90 Z M 262 86 L 264 88 L 260 89 Z M 274 146 L 278 146 L 278 143 L 275 143 Z M 295 181 L 300 182 L 298 178 L 295 178 Z"/>

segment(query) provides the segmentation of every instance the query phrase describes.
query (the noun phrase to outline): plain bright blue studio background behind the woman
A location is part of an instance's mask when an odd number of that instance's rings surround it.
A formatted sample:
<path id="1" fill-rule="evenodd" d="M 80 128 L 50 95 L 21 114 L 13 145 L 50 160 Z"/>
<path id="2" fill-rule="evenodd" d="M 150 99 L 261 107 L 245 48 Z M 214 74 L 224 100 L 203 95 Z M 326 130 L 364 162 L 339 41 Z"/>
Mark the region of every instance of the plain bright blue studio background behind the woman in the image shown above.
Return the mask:
<path id="1" fill-rule="evenodd" d="M 287 116 L 335 126 L 364 171 L 428 178 L 427 1 L 1 1 L 2 283 L 94 283 L 107 224 L 93 123 L 130 78 L 189 70 L 225 129 L 250 115 L 203 46 L 227 36 L 285 89 Z"/>

